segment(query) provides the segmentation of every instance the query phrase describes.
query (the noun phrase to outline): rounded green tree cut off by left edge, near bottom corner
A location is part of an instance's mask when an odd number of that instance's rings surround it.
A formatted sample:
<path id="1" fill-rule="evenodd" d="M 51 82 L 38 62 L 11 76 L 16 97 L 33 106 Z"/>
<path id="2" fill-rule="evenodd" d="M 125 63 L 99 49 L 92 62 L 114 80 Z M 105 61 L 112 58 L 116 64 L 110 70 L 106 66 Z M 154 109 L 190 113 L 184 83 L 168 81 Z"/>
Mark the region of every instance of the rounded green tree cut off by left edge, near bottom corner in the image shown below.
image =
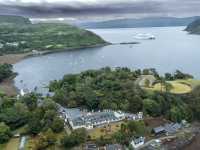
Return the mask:
<path id="1" fill-rule="evenodd" d="M 11 137 L 10 127 L 4 122 L 0 123 L 0 144 L 7 142 Z"/>

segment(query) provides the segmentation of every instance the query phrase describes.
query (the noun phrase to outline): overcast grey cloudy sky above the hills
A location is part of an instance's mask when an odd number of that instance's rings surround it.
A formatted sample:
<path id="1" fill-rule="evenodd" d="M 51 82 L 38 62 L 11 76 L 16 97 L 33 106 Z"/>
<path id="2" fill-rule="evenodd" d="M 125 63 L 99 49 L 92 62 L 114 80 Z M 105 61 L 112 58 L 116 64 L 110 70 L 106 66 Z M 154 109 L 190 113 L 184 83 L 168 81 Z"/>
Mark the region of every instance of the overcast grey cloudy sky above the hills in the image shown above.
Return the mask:
<path id="1" fill-rule="evenodd" d="M 0 0 L 0 14 L 71 20 L 198 16 L 200 0 Z"/>

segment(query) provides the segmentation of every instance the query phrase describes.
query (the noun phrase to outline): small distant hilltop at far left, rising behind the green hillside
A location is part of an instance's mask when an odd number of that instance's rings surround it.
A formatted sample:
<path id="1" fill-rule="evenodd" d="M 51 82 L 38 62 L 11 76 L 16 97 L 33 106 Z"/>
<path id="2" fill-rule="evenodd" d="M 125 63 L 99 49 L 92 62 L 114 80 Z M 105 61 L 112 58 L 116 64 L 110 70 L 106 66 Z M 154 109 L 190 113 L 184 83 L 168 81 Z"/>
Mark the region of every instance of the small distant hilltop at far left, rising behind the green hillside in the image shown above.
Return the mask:
<path id="1" fill-rule="evenodd" d="M 0 24 L 31 24 L 31 21 L 21 16 L 0 15 Z"/>

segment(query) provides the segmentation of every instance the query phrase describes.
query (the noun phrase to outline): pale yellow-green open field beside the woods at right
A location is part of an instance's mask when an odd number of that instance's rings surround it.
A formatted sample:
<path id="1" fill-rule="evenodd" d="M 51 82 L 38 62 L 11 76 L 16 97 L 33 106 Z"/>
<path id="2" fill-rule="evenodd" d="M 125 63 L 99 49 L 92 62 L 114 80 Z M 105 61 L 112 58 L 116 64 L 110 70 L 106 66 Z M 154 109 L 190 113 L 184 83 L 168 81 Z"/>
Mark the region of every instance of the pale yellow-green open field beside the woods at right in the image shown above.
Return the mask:
<path id="1" fill-rule="evenodd" d="M 185 94 L 190 93 L 192 89 L 196 86 L 200 85 L 200 80 L 188 79 L 188 80 L 175 80 L 175 81 L 168 81 L 172 85 L 172 89 L 170 90 L 171 93 L 174 94 Z M 161 84 L 157 83 L 151 88 L 145 88 L 147 90 L 152 91 L 165 91 L 165 88 L 161 88 Z"/>

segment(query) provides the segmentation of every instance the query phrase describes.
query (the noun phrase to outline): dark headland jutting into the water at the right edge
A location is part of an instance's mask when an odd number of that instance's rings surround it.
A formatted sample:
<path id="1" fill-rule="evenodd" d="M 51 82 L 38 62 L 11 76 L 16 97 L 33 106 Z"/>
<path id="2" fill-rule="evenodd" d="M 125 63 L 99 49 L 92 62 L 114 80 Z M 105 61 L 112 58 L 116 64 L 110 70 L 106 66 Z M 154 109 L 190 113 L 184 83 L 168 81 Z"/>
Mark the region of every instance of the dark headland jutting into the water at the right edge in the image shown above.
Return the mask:
<path id="1" fill-rule="evenodd" d="M 185 30 L 191 34 L 200 34 L 200 19 L 190 23 Z"/>

